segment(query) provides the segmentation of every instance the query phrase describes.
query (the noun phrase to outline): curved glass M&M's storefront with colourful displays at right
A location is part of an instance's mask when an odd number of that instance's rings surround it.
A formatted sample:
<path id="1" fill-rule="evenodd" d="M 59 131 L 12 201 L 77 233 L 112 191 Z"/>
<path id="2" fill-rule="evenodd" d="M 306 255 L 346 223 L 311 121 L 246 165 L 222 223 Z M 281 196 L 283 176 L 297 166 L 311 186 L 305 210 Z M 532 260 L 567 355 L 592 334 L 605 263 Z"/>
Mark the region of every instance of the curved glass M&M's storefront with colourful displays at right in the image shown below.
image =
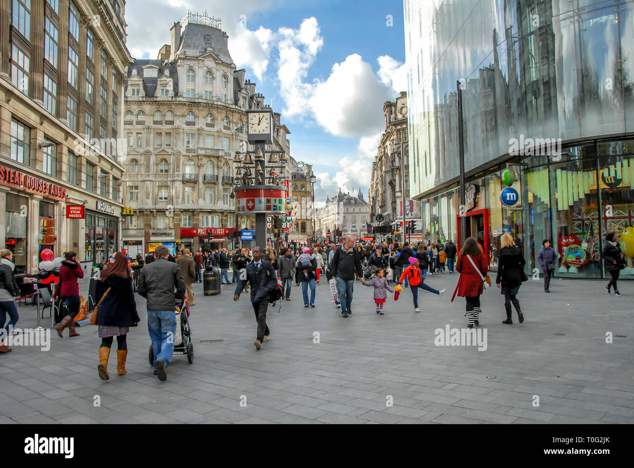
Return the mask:
<path id="1" fill-rule="evenodd" d="M 456 242 L 464 214 L 466 237 L 477 239 L 494 268 L 500 235 L 510 233 L 524 251 L 526 273 L 540 268 L 542 242 L 552 240 L 555 276 L 605 278 L 600 252 L 612 232 L 628 263 L 621 277 L 634 279 L 633 164 L 634 140 L 595 140 L 555 157 L 512 159 L 467 178 L 462 212 L 456 185 L 424 198 L 424 237 Z"/>

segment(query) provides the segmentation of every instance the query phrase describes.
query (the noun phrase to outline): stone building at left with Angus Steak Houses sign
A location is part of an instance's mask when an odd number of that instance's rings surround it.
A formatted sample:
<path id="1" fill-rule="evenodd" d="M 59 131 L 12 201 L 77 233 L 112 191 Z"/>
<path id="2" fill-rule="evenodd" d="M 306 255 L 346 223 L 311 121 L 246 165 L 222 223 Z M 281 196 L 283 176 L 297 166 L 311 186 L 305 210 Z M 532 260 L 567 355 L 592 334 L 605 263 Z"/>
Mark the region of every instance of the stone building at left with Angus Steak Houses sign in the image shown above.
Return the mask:
<path id="1" fill-rule="evenodd" d="M 1 2 L 0 242 L 18 275 L 42 249 L 95 263 L 120 250 L 125 6 Z"/>

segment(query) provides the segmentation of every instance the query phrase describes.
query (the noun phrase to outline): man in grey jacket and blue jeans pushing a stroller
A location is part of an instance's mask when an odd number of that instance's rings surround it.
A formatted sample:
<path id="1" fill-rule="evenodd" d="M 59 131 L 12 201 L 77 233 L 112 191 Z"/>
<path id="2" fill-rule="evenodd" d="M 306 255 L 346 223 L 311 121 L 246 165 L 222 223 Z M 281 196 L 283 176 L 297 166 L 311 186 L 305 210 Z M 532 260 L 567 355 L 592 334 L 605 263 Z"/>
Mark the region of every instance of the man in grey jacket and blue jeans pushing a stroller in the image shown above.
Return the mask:
<path id="1" fill-rule="evenodd" d="M 181 268 L 176 263 L 167 261 L 169 250 L 165 245 L 159 245 L 154 253 L 157 259 L 146 264 L 141 270 L 137 292 L 147 299 L 154 374 L 159 375 L 159 380 L 164 381 L 167 379 L 167 367 L 174 353 L 176 297 L 184 297 L 185 283 Z"/>

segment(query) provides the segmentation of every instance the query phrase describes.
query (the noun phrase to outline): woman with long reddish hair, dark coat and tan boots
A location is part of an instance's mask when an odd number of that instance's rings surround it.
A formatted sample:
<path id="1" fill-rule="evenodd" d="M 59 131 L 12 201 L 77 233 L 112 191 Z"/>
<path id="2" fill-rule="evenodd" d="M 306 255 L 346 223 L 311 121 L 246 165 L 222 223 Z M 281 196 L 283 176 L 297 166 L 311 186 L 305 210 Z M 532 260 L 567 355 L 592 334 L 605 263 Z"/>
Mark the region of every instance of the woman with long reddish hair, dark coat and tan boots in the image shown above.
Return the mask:
<path id="1" fill-rule="evenodd" d="M 127 333 L 140 319 L 136 313 L 131 269 L 126 256 L 114 254 L 114 263 L 101 271 L 101 278 L 95 287 L 96 301 L 101 302 L 97 311 L 97 336 L 101 338 L 99 365 L 97 370 L 101 380 L 108 380 L 108 358 L 113 337 L 117 337 L 117 374 L 126 374 Z"/>

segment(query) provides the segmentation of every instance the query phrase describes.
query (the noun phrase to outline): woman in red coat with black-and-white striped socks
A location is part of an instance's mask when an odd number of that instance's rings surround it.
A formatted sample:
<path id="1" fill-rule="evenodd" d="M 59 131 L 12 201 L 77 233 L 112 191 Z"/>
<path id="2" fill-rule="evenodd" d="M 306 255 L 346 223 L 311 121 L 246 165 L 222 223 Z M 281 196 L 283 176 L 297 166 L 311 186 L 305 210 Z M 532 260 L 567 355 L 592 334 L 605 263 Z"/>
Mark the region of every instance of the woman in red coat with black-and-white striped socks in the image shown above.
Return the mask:
<path id="1" fill-rule="evenodd" d="M 477 266 L 479 272 L 475 270 L 474 266 L 469 261 L 471 257 L 475 266 Z M 467 327 L 473 328 L 475 325 L 480 325 L 479 316 L 480 309 L 480 295 L 482 294 L 482 277 L 486 276 L 486 272 L 489 270 L 489 263 L 486 257 L 478 247 L 477 242 L 473 237 L 467 238 L 465 245 L 460 250 L 458 255 L 458 261 L 456 261 L 456 271 L 460 272 L 460 279 L 456 286 L 456 293 L 460 297 L 464 297 L 467 301 Z M 482 275 L 480 275 L 482 273 Z M 453 300 L 453 299 L 452 299 Z"/>

